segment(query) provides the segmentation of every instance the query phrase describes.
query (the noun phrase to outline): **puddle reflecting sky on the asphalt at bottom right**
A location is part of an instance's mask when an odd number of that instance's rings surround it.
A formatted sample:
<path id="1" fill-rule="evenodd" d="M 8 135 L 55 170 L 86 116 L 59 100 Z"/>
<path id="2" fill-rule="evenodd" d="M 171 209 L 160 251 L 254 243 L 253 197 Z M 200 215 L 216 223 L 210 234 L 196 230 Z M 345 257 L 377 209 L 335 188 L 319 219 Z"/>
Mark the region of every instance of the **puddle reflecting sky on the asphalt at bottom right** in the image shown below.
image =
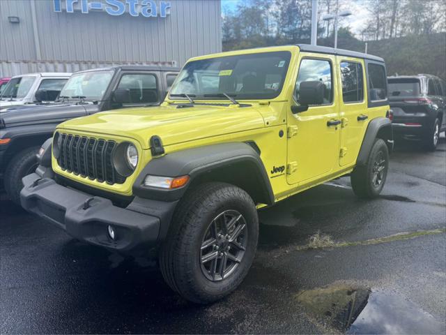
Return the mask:
<path id="1" fill-rule="evenodd" d="M 393 292 L 337 285 L 295 296 L 319 322 L 347 334 L 445 334 L 445 324 Z"/>

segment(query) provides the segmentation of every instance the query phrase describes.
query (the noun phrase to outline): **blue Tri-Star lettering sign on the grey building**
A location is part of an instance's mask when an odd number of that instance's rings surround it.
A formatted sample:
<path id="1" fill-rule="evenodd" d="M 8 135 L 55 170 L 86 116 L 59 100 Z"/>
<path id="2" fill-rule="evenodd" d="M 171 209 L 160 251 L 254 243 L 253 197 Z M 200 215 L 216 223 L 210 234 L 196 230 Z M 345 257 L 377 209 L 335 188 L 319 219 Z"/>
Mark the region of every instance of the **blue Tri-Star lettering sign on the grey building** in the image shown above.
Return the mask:
<path id="1" fill-rule="evenodd" d="M 65 3 L 65 8 L 63 8 Z M 89 1 L 89 0 L 53 0 L 54 12 L 62 13 L 65 9 L 67 13 L 75 13 L 75 5 L 80 6 L 83 14 L 88 14 L 89 10 L 105 10 L 109 15 L 123 15 L 128 9 L 128 13 L 132 16 L 144 17 L 167 17 L 169 15 L 170 2 L 160 1 L 159 6 L 154 0 L 105 0 Z"/>

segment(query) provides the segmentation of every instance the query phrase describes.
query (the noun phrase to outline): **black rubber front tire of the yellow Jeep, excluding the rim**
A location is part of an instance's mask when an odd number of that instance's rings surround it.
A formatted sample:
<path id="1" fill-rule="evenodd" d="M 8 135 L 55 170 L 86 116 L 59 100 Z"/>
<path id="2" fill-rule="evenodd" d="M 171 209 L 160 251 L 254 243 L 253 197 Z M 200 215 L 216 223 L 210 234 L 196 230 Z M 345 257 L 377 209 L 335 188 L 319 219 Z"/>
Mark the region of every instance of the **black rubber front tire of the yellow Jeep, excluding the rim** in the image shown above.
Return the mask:
<path id="1" fill-rule="evenodd" d="M 222 281 L 206 278 L 201 246 L 213 218 L 222 211 L 238 211 L 246 223 L 245 251 L 238 267 Z M 185 299 L 208 304 L 222 299 L 243 281 L 252 265 L 259 238 L 259 218 L 252 198 L 241 188 L 206 183 L 187 191 L 178 204 L 167 238 L 160 248 L 160 269 L 167 284 Z"/>

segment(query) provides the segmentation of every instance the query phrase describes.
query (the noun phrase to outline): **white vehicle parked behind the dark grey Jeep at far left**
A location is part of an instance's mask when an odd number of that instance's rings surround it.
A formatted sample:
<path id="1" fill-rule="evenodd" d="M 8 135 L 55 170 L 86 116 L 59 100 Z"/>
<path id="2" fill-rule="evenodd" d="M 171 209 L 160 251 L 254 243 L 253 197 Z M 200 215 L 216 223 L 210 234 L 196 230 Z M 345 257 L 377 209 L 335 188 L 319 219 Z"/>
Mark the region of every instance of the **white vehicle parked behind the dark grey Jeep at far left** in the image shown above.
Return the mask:
<path id="1" fill-rule="evenodd" d="M 15 105 L 41 101 L 46 92 L 48 101 L 54 101 L 71 73 L 28 73 L 12 77 L 1 91 L 0 110 Z"/>

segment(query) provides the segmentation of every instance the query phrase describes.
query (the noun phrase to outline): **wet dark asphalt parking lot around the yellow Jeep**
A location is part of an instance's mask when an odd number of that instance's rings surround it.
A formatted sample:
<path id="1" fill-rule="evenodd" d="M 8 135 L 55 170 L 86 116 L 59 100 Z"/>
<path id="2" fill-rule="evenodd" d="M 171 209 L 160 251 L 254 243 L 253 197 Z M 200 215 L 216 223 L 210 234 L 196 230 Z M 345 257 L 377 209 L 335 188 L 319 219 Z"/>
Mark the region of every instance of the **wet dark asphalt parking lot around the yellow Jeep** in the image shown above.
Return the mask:
<path id="1" fill-rule="evenodd" d="M 252 269 L 210 306 L 169 290 L 155 262 L 70 239 L 3 197 L 0 334 L 445 334 L 446 140 L 405 143 L 390 166 L 377 200 L 341 178 L 261 211 Z"/>

